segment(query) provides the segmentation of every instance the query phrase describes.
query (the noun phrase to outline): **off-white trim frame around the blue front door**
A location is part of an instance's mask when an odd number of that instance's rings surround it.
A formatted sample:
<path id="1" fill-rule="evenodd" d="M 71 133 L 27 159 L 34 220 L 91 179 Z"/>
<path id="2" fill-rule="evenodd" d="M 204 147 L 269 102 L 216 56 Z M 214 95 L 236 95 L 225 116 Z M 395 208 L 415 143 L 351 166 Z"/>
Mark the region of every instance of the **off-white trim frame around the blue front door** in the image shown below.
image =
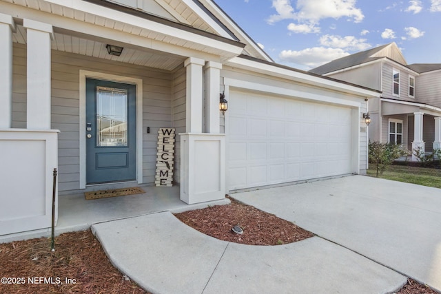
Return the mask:
<path id="1" fill-rule="evenodd" d="M 143 80 L 141 78 L 130 78 L 128 76 L 117 76 L 115 74 L 105 74 L 103 72 L 91 72 L 80 70 L 80 187 L 86 187 L 86 142 L 85 142 L 85 80 L 86 78 L 97 78 L 105 81 L 117 83 L 130 83 L 136 85 L 136 180 L 139 184 L 143 183 Z"/>

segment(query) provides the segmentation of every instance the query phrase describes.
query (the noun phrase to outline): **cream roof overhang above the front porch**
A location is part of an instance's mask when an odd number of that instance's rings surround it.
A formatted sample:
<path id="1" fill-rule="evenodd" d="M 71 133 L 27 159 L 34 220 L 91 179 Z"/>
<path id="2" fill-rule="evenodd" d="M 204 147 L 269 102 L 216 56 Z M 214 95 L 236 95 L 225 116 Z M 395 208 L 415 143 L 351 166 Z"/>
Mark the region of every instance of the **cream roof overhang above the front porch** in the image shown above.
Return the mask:
<path id="1" fill-rule="evenodd" d="M 30 5 L 30 2 L 32 2 L 33 5 Z M 160 41 L 161 43 L 177 45 L 181 48 L 220 56 L 220 61 L 238 56 L 243 52 L 243 48 L 245 48 L 245 44 L 233 39 L 211 34 L 189 27 L 188 25 L 176 23 L 108 1 L 28 0 L 26 3 L 28 6 L 22 6 L 23 9 L 20 8 L 19 4 L 2 2 L 1 5 L 4 13 L 9 12 L 14 17 L 24 15 L 30 19 L 45 22 L 44 16 L 40 17 L 40 14 L 41 12 L 46 12 L 52 14 L 54 18 L 63 17 L 63 19 L 71 19 L 78 24 L 72 25 L 72 21 L 66 24 L 63 24 L 63 21 L 51 22 L 54 27 L 65 30 L 76 30 L 77 27 L 80 32 L 84 32 L 81 28 L 81 23 L 93 24 L 109 29 L 107 23 L 117 22 L 119 23 L 119 25 L 117 25 L 118 28 L 116 28 L 116 25 L 114 28 L 111 28 L 116 32 L 121 31 L 125 34 L 133 34 L 138 37 L 147 36 L 147 38 L 152 39 L 152 41 Z M 39 9 L 30 10 L 32 7 Z M 29 12 L 26 13 L 25 10 L 32 11 L 32 14 L 29 14 Z M 17 12 L 23 12 L 23 14 Z M 99 21 L 93 21 L 96 18 L 98 18 Z M 127 31 L 127 28 L 136 29 Z M 127 42 L 130 43 L 130 40 L 127 39 Z"/>

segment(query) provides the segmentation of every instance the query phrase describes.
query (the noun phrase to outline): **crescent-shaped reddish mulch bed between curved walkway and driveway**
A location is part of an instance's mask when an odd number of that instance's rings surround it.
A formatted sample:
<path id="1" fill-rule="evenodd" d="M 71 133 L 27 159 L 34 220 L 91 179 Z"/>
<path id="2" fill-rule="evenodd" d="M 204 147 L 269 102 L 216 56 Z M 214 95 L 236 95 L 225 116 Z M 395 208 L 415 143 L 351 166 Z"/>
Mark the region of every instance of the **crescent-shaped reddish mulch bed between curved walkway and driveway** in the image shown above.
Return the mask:
<path id="1" fill-rule="evenodd" d="M 292 222 L 235 200 L 231 204 L 186 211 L 175 216 L 202 233 L 240 244 L 280 245 L 314 236 Z M 232 231 L 236 225 L 243 229 L 243 234 Z"/>

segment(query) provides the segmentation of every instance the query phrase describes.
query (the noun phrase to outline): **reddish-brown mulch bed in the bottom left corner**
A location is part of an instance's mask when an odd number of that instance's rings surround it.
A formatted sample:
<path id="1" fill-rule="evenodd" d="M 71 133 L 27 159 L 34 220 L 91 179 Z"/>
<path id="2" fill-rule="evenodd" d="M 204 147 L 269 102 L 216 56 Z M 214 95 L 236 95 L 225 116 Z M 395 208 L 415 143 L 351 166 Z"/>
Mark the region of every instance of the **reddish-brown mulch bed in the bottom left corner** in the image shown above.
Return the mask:
<path id="1" fill-rule="evenodd" d="M 0 293 L 147 293 L 112 266 L 90 230 L 57 236 L 54 252 L 50 238 L 0 244 L 0 273 L 25 278 L 0 284 Z M 32 284 L 28 277 L 47 280 Z"/>

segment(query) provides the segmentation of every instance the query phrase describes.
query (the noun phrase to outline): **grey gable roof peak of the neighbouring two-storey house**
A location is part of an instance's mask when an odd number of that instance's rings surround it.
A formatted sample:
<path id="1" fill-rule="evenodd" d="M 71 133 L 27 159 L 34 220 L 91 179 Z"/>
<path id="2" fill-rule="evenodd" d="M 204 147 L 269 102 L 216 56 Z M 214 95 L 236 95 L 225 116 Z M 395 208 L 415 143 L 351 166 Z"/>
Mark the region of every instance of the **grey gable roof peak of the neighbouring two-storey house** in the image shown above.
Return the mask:
<path id="1" fill-rule="evenodd" d="M 383 58 L 388 58 L 402 65 L 407 65 L 407 62 L 396 43 L 389 43 L 336 59 L 309 70 L 309 72 L 313 72 L 314 74 L 328 74 L 329 72 L 336 72 L 337 70 L 343 70 L 347 67 L 360 65 L 362 63 L 376 61 Z"/>

